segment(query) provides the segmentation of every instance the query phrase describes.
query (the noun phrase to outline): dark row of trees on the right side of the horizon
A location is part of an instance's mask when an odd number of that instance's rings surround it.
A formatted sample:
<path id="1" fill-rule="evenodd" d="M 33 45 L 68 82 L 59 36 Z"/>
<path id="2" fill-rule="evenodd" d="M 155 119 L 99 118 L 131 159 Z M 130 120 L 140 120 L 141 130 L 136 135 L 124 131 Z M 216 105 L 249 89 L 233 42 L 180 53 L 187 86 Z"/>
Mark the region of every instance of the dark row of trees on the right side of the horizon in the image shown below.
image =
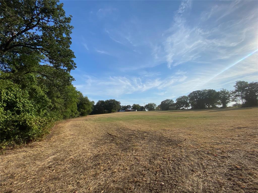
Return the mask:
<path id="1" fill-rule="evenodd" d="M 251 107 L 258 105 L 258 82 L 237 81 L 234 87 L 235 90 L 233 91 L 227 89 L 193 91 L 187 96 L 178 97 L 175 103 L 171 99 L 166 99 L 158 107 L 160 110 L 207 109 L 219 106 L 226 108 L 228 103 L 232 101 L 237 102 L 235 106 Z"/>

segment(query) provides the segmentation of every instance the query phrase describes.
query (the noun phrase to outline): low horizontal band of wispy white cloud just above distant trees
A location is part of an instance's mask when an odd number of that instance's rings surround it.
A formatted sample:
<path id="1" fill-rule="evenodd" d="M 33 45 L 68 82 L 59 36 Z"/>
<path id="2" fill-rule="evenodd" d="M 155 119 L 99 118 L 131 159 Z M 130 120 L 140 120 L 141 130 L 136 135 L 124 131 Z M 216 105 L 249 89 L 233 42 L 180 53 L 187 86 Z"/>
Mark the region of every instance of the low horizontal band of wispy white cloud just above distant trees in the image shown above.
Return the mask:
<path id="1" fill-rule="evenodd" d="M 164 89 L 187 78 L 185 75 L 174 75 L 163 79 L 158 77 L 151 78 L 149 76 L 140 78 L 136 76 L 96 77 L 84 75 L 83 77 L 85 83 L 77 85 L 77 87 L 83 90 L 83 93 L 115 97 L 135 92 L 144 92 L 150 89 Z"/>

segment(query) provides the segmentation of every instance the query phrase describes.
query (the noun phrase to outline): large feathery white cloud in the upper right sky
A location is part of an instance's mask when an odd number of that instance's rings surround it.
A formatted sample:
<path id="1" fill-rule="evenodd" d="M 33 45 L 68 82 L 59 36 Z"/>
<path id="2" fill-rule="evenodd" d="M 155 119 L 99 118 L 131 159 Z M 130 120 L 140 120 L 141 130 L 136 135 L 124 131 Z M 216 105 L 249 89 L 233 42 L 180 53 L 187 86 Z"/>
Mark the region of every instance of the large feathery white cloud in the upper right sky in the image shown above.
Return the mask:
<path id="1" fill-rule="evenodd" d="M 183 5 L 182 5 L 183 4 Z M 179 13 L 184 13 L 184 8 L 190 7 L 183 2 L 180 5 Z M 222 6 L 220 10 L 222 10 Z M 239 2 L 233 2 L 225 7 L 232 7 L 233 10 L 225 13 L 223 16 L 231 14 L 239 8 Z M 217 6 L 215 6 L 216 8 Z M 215 8 L 211 13 L 214 14 Z M 224 8 L 224 7 L 223 7 Z M 199 23 L 195 27 L 191 27 L 182 14 L 176 13 L 174 16 L 174 24 L 166 32 L 164 32 L 165 40 L 163 42 L 165 49 L 165 58 L 168 68 L 187 62 L 209 63 L 212 60 L 228 59 L 231 56 L 255 50 L 257 43 L 248 45 L 257 37 L 258 14 L 254 10 L 242 17 L 242 19 L 221 22 L 219 25 L 207 28 L 207 24 Z M 154 51 L 154 53 L 157 53 Z M 209 57 L 210 56 L 210 57 Z M 215 56 L 215 57 L 214 57 Z"/>

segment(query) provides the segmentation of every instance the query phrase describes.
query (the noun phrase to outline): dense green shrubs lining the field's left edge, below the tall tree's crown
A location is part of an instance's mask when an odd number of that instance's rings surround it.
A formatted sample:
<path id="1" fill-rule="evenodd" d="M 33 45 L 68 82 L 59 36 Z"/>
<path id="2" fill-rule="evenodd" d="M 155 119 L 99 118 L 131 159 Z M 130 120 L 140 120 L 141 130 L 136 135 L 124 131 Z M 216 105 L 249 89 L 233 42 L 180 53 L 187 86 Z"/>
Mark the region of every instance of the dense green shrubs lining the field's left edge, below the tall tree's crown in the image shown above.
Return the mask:
<path id="1" fill-rule="evenodd" d="M 9 76 L 10 74 L 1 76 L 2 148 L 7 144 L 21 144 L 44 136 L 58 119 L 86 116 L 92 111 L 92 102 L 72 85 L 66 87 L 62 97 L 51 100 L 47 96 L 48 89 L 44 85 L 38 85 L 35 75 L 27 74 L 27 80 L 30 81 L 26 84 L 13 83 L 7 79 Z M 59 104 L 58 109 L 52 101 Z"/>

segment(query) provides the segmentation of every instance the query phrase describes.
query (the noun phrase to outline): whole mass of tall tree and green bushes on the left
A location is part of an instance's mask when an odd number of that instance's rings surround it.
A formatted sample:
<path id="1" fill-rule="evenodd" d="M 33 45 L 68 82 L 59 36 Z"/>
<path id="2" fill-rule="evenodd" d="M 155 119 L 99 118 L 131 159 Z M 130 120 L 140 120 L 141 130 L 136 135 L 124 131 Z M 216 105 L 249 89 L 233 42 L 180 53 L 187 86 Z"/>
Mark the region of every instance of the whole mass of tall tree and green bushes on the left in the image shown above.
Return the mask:
<path id="1" fill-rule="evenodd" d="M 93 102 L 71 84 L 71 16 L 58 1 L 1 1 L 1 147 L 35 140 Z"/>

